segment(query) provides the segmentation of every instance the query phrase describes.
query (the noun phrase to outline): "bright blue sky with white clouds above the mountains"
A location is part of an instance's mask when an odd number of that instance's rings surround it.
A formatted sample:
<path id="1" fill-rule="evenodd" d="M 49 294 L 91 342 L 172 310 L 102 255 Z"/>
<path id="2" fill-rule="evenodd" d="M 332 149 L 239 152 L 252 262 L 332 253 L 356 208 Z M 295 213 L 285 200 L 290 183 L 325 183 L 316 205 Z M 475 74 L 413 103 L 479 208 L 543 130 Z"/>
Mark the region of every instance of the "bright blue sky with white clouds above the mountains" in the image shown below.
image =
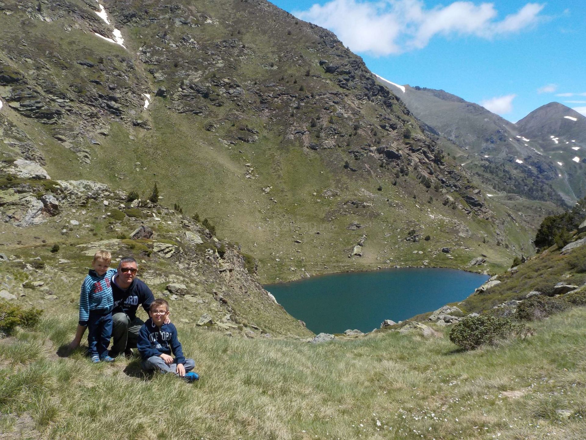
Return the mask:
<path id="1" fill-rule="evenodd" d="M 271 0 L 330 29 L 373 73 L 515 122 L 551 101 L 586 115 L 586 0 Z"/>

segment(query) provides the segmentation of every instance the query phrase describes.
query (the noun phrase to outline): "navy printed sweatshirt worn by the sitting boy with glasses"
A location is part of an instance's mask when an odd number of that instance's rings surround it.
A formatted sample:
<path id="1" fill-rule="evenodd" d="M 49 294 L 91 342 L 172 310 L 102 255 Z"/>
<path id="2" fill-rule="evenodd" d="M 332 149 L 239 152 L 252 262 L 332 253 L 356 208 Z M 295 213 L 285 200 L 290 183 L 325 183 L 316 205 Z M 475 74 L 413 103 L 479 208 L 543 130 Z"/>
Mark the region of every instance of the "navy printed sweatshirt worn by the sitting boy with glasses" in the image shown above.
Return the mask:
<path id="1" fill-rule="evenodd" d="M 175 362 L 178 364 L 185 363 L 181 344 L 177 339 L 177 329 L 173 324 L 164 324 L 159 327 L 155 326 L 152 319 L 142 324 L 138 332 L 137 340 L 138 353 L 141 354 L 142 360 L 147 360 L 151 356 L 160 356 L 162 353 L 175 356 Z"/>

